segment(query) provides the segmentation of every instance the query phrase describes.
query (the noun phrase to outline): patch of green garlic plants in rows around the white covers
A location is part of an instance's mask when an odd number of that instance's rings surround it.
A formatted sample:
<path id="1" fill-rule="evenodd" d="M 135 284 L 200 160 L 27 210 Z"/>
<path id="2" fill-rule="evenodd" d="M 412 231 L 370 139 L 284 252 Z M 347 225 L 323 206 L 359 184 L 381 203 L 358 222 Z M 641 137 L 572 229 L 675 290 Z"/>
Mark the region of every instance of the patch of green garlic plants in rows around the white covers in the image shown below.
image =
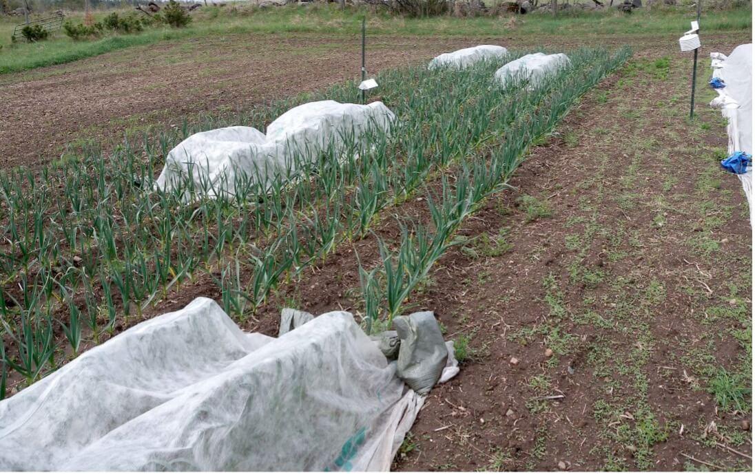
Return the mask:
<path id="1" fill-rule="evenodd" d="M 505 184 L 529 143 L 627 56 L 578 51 L 569 69 L 533 90 L 521 81 L 495 85 L 497 63 L 384 72 L 383 100 L 397 116 L 389 135 L 357 142 L 346 134 L 346 153 L 302 159 L 295 176 L 269 188 L 238 176 L 236 195 L 202 198 L 217 184 L 193 180 L 171 192 L 153 188 L 156 166 L 180 139 L 229 119 L 145 137 L 138 150 L 125 142 L 110 155 L 92 150 L 38 173 L 0 173 L 0 398 L 11 370 L 30 383 L 57 367 L 66 353 L 57 336 L 76 354 L 84 339 L 99 342 L 119 319 L 128 323 L 202 275 L 217 282 L 226 311 L 243 320 L 281 281 L 296 280 L 341 242 L 365 237 L 383 210 L 427 195 L 428 177 L 444 176 L 453 164 L 442 193 L 427 197 L 432 229 L 402 225 L 399 250 L 381 244 L 386 264 L 362 270 L 368 324 L 390 320 L 452 244 L 458 223 Z M 353 84 L 296 101 L 325 97 L 354 100 Z M 296 101 L 233 121 L 263 130 Z M 187 203 L 186 195 L 196 199 Z"/>

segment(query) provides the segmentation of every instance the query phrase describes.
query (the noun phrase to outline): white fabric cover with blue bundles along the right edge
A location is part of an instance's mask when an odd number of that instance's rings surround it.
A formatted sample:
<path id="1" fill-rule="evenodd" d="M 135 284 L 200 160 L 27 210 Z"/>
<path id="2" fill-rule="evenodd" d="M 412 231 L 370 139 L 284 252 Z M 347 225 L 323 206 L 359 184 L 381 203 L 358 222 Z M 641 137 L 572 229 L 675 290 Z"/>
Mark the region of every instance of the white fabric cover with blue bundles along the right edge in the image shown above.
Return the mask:
<path id="1" fill-rule="evenodd" d="M 721 114 L 728 120 L 726 132 L 729 133 L 729 155 L 745 152 L 753 155 L 753 45 L 740 44 L 727 57 L 721 53 L 711 53 L 713 78 L 721 78 L 726 87 L 716 89 L 718 97 L 710 106 L 721 109 Z M 747 173 L 737 175 L 742 182 L 747 203 L 750 206 L 750 225 L 753 225 L 752 167 Z"/>

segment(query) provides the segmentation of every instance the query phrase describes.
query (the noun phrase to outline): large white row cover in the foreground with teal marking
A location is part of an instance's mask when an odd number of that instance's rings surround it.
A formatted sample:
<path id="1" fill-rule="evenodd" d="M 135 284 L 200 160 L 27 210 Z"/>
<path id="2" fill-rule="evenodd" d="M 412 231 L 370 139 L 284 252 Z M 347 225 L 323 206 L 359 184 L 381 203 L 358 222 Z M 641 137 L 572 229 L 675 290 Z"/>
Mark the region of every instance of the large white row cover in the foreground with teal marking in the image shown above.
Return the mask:
<path id="1" fill-rule="evenodd" d="M 0 401 L 0 470 L 389 470 L 424 397 L 351 314 L 305 320 L 249 334 L 197 298 L 140 323 Z"/>

